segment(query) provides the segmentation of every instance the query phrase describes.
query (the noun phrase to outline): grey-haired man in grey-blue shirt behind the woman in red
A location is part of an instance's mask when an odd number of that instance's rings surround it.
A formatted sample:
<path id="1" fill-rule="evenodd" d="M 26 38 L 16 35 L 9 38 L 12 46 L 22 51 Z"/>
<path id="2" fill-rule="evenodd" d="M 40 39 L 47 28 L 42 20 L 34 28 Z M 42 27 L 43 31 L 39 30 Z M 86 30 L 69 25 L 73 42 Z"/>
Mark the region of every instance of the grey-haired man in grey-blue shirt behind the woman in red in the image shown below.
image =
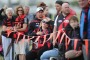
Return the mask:
<path id="1" fill-rule="evenodd" d="M 24 12 L 25 12 L 25 14 L 26 14 L 25 19 L 28 20 L 28 24 L 29 24 L 32 20 L 34 20 L 34 15 L 31 14 L 29 11 L 30 11 L 29 6 L 25 6 L 25 7 L 24 7 Z"/>

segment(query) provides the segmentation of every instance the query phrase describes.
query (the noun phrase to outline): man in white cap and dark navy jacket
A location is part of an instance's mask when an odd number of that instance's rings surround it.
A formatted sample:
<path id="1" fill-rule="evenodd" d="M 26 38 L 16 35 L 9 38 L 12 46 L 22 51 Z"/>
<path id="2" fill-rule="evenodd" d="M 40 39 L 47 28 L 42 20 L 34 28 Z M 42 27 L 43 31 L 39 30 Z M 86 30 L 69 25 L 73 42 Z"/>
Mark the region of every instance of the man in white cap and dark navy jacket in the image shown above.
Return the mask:
<path id="1" fill-rule="evenodd" d="M 38 7 L 36 9 L 35 19 L 31 21 L 28 28 L 28 35 L 30 35 L 36 28 L 39 27 L 41 20 L 43 19 L 43 8 Z"/>

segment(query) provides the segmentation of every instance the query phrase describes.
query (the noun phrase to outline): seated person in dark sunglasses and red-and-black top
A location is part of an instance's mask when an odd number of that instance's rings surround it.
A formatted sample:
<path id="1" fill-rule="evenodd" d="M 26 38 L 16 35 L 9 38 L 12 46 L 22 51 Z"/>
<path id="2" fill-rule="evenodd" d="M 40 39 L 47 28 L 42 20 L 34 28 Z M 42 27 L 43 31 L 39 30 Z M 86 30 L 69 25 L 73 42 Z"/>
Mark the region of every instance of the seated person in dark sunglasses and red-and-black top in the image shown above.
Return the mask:
<path id="1" fill-rule="evenodd" d="M 35 29 L 31 34 L 31 36 L 40 36 L 40 39 L 38 40 L 38 43 L 33 44 L 32 50 L 26 56 L 27 60 L 30 60 L 30 59 L 35 60 L 36 58 L 40 60 L 41 54 L 44 51 L 51 49 L 50 41 L 45 42 L 45 44 L 43 45 L 44 35 L 51 33 L 51 29 L 49 28 L 49 26 L 50 26 L 49 21 L 46 19 L 43 19 L 41 21 L 41 27 Z M 46 37 L 46 40 L 48 38 L 49 38 L 49 35 Z M 33 39 L 32 41 L 35 42 L 35 39 Z"/>

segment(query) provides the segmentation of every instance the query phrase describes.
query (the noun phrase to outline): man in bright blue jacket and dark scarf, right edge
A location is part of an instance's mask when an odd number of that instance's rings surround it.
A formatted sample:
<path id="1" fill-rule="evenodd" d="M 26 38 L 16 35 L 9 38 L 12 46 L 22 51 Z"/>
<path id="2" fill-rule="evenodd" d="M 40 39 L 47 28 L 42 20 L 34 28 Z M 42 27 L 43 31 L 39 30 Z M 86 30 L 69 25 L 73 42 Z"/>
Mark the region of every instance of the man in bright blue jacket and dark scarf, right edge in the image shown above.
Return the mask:
<path id="1" fill-rule="evenodd" d="M 87 0 L 78 0 L 80 7 L 82 8 L 81 16 L 84 13 L 83 19 L 80 18 L 80 36 L 83 39 L 87 38 L 87 26 L 88 26 L 88 1 Z M 86 16 L 86 17 L 85 17 Z"/>

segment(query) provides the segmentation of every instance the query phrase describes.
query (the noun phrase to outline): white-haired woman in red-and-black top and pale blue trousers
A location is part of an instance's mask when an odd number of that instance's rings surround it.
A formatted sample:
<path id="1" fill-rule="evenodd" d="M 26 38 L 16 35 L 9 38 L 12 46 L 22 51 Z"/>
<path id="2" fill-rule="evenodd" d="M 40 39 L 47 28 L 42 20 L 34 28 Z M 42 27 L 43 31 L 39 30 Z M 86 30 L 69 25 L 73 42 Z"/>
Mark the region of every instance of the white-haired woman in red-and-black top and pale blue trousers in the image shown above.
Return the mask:
<path id="1" fill-rule="evenodd" d="M 3 21 L 2 29 L 3 31 L 13 30 L 15 19 L 13 18 L 14 10 L 12 8 L 6 9 L 7 17 Z M 6 37 L 6 35 L 2 35 L 2 45 L 3 45 L 3 52 L 4 52 L 4 60 L 13 60 L 12 59 L 12 47 L 10 52 L 6 56 L 7 49 L 9 44 L 11 43 L 11 38 Z"/>

